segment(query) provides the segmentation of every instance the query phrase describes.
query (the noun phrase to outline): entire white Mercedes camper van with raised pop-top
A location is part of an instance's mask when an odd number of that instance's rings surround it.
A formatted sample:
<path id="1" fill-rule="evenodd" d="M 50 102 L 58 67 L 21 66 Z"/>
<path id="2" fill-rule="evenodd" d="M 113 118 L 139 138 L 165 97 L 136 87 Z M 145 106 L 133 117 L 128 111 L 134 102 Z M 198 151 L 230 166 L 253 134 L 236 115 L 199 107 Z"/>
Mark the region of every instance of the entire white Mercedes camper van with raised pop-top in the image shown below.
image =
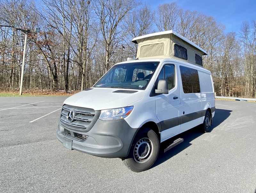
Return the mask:
<path id="1" fill-rule="evenodd" d="M 136 60 L 115 64 L 64 101 L 57 138 L 70 150 L 122 158 L 140 172 L 154 164 L 161 142 L 197 125 L 210 131 L 215 99 L 202 48 L 173 31 L 132 42 L 138 44 Z"/>

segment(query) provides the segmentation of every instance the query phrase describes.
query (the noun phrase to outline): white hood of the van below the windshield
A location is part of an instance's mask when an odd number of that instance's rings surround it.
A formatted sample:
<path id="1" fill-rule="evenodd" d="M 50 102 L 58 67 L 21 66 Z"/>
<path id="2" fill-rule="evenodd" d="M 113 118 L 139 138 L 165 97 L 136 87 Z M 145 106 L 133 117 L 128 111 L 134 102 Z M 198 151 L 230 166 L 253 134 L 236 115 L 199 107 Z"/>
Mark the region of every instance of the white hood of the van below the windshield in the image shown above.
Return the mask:
<path id="1" fill-rule="evenodd" d="M 113 93 L 114 91 L 136 91 L 135 93 Z M 143 98 L 144 90 L 92 88 L 76 93 L 64 101 L 64 104 L 96 110 L 126 107 Z"/>

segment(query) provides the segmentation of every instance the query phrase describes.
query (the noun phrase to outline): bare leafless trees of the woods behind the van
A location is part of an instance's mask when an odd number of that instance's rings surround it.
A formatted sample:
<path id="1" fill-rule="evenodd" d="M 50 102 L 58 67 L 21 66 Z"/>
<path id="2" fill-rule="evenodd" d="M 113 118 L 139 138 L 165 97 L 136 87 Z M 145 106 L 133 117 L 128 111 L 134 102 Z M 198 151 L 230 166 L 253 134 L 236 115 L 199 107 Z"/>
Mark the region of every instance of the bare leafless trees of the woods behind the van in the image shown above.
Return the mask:
<path id="1" fill-rule="evenodd" d="M 24 33 L 28 34 L 24 88 L 84 90 L 115 63 L 136 56 L 134 37 L 173 30 L 207 51 L 204 68 L 212 72 L 220 96 L 256 97 L 256 22 L 239 32 L 211 16 L 161 4 L 152 11 L 135 0 L 0 0 L 0 88 L 20 86 Z"/>

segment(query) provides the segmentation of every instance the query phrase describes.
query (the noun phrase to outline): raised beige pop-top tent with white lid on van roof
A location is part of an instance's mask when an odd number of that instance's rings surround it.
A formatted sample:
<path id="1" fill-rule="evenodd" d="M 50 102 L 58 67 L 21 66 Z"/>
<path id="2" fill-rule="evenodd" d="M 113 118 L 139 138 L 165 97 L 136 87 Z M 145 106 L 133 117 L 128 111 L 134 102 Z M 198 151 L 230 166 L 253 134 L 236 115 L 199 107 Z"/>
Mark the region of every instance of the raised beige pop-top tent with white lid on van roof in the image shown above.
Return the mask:
<path id="1" fill-rule="evenodd" d="M 207 55 L 202 48 L 172 30 L 143 35 L 132 42 L 138 44 L 137 59 L 178 58 L 203 66 L 202 56 Z"/>

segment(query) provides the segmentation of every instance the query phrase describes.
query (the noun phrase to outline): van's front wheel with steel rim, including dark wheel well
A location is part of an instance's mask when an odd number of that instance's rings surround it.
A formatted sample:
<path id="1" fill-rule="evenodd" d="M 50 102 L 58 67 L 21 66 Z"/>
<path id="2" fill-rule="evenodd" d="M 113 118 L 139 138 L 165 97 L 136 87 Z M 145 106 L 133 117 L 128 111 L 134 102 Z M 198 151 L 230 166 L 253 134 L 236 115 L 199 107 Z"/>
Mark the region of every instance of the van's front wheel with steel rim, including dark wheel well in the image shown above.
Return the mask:
<path id="1" fill-rule="evenodd" d="M 149 169 L 156 161 L 159 146 L 155 131 L 150 128 L 140 130 L 132 142 L 129 155 L 122 158 L 124 165 L 133 172 Z"/>

